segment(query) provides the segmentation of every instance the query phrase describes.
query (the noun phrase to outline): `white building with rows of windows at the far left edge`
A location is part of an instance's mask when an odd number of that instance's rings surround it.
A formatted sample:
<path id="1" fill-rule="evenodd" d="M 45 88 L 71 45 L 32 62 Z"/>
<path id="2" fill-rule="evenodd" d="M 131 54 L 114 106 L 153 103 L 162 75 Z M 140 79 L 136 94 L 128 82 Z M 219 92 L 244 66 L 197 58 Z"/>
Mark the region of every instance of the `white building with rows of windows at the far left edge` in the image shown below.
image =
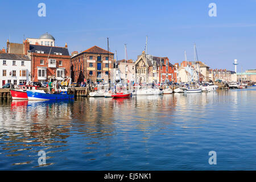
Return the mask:
<path id="1" fill-rule="evenodd" d="M 30 81 L 31 60 L 27 55 L 0 53 L 0 88 Z"/>

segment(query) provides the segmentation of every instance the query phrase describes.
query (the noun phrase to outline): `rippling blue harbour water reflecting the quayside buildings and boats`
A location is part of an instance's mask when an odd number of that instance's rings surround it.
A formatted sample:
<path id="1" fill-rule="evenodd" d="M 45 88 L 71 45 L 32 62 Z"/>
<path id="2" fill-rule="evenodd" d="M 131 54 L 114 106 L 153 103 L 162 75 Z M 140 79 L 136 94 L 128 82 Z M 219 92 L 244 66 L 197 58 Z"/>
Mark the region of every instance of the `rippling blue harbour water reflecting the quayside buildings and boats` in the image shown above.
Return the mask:
<path id="1" fill-rule="evenodd" d="M 2 100 L 0 170 L 255 170 L 255 103 L 256 88 Z"/>

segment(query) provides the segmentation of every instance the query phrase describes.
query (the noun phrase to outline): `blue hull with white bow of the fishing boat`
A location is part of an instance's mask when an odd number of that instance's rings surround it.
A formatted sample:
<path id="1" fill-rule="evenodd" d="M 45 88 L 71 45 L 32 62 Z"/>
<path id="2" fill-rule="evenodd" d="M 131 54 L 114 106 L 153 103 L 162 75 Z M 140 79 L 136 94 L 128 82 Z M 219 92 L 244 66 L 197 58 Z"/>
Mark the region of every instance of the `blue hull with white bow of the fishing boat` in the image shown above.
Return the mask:
<path id="1" fill-rule="evenodd" d="M 63 100 L 74 99 L 73 94 L 62 93 L 46 93 L 44 90 L 27 90 L 28 100 Z"/>

